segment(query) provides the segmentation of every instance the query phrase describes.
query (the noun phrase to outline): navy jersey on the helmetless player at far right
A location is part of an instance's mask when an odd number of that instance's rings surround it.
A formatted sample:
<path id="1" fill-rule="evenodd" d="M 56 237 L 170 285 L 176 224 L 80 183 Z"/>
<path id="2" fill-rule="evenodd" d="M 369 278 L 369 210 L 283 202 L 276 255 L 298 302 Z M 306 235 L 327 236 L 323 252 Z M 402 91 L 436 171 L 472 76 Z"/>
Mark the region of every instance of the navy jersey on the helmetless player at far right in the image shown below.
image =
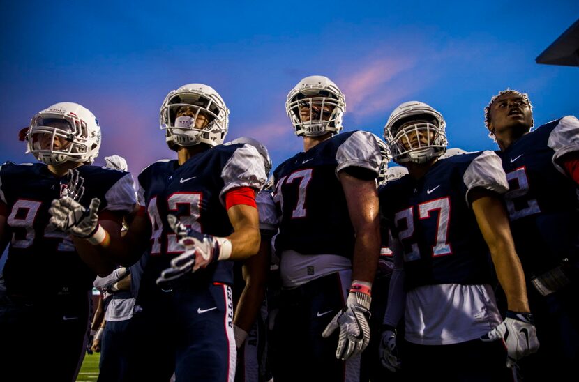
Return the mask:
<path id="1" fill-rule="evenodd" d="M 578 188 L 555 162 L 579 150 L 579 121 L 566 116 L 523 135 L 503 153 L 506 207 L 527 275 L 579 254 Z"/>

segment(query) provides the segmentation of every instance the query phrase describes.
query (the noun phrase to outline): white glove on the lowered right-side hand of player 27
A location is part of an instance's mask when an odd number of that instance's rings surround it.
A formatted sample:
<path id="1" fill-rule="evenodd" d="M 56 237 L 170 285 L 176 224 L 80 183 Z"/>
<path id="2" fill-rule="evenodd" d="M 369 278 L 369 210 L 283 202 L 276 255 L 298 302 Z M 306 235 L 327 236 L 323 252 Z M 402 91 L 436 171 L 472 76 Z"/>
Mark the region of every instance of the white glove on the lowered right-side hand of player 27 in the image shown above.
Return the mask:
<path id="1" fill-rule="evenodd" d="M 517 360 L 539 349 L 539 339 L 530 313 L 507 310 L 504 321 L 481 339 L 485 342 L 502 339 L 506 345 L 506 366 L 511 368 L 516 366 Z"/>

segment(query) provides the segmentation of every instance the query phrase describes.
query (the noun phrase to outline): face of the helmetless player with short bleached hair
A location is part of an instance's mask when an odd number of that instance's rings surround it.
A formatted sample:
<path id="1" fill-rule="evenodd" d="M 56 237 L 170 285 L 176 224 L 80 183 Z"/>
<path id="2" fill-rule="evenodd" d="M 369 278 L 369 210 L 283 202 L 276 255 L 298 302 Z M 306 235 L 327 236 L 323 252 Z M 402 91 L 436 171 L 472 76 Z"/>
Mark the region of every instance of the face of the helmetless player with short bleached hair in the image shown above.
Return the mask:
<path id="1" fill-rule="evenodd" d="M 495 135 L 513 127 L 529 131 L 533 125 L 531 106 L 516 93 L 504 93 L 490 106 L 490 122 Z"/>

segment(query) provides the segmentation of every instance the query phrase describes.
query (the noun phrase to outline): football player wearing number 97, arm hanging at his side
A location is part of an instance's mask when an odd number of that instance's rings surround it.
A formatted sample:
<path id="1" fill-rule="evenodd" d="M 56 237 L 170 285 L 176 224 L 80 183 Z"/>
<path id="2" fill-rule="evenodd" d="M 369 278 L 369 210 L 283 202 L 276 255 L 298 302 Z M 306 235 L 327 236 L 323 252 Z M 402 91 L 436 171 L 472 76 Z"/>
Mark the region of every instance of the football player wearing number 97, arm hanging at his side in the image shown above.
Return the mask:
<path id="1" fill-rule="evenodd" d="M 283 286 L 273 376 L 359 379 L 380 245 L 379 148 L 369 132 L 338 134 L 345 98 L 326 77 L 302 79 L 285 109 L 304 151 L 273 172 Z"/>

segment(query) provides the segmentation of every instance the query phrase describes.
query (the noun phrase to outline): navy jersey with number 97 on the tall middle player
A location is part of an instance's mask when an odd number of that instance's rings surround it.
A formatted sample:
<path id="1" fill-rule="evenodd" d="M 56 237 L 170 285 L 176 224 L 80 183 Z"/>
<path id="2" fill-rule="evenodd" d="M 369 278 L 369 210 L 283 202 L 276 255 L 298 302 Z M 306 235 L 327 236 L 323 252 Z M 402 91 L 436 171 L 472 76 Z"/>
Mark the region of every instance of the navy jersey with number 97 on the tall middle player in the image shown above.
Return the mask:
<path id="1" fill-rule="evenodd" d="M 380 162 L 376 139 L 365 131 L 335 135 L 283 162 L 273 172 L 281 212 L 276 252 L 352 258 L 354 228 L 338 172 L 358 167 L 377 176 Z"/>

